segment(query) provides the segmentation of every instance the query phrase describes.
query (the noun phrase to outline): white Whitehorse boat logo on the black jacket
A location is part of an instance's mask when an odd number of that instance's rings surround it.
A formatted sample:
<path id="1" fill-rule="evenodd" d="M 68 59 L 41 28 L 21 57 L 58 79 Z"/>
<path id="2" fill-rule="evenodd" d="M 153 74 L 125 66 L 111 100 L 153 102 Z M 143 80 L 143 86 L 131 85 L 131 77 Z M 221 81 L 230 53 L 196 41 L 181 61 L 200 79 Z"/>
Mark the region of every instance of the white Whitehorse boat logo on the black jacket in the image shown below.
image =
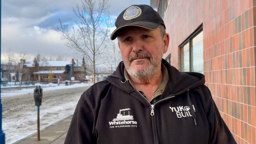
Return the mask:
<path id="1" fill-rule="evenodd" d="M 137 121 L 134 121 L 132 115 L 130 115 L 129 108 L 119 110 L 117 118 L 114 118 L 109 122 L 110 128 L 124 128 L 124 127 L 137 127 Z"/>

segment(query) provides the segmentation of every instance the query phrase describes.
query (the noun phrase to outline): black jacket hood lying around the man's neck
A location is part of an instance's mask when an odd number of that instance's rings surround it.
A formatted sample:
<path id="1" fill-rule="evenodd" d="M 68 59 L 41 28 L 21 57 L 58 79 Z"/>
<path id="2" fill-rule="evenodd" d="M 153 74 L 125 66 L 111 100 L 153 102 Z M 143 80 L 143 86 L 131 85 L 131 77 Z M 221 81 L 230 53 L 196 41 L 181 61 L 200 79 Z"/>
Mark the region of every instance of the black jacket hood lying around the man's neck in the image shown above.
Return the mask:
<path id="1" fill-rule="evenodd" d="M 166 60 L 162 59 L 162 64 L 167 68 L 169 82 L 172 94 L 179 95 L 198 86 L 204 85 L 204 75 L 198 72 L 179 72 L 175 67 L 171 66 Z M 124 63 L 121 61 L 117 70 L 109 75 L 106 80 L 122 91 L 129 92 L 133 87 L 128 84 L 124 78 Z"/>

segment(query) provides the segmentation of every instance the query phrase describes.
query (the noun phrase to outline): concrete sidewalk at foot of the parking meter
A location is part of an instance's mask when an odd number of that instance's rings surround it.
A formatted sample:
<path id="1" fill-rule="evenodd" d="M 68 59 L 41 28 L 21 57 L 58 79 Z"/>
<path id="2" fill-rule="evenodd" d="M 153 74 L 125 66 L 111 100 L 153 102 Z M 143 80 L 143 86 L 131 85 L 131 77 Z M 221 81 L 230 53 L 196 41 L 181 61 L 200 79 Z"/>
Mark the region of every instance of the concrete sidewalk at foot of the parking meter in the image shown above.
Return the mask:
<path id="1" fill-rule="evenodd" d="M 72 115 L 41 130 L 40 141 L 34 133 L 13 144 L 64 144 L 71 119 Z"/>

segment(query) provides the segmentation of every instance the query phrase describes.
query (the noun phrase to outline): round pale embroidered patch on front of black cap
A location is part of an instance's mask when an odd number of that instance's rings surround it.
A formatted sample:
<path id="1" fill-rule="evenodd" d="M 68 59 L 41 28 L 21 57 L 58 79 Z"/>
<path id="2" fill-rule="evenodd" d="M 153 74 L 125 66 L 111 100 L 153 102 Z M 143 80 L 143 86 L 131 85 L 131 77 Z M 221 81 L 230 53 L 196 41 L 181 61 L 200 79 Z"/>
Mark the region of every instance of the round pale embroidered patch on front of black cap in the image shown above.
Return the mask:
<path id="1" fill-rule="evenodd" d="M 130 20 L 138 17 L 141 14 L 141 9 L 137 6 L 131 6 L 127 10 L 125 10 L 123 14 L 123 19 Z"/>

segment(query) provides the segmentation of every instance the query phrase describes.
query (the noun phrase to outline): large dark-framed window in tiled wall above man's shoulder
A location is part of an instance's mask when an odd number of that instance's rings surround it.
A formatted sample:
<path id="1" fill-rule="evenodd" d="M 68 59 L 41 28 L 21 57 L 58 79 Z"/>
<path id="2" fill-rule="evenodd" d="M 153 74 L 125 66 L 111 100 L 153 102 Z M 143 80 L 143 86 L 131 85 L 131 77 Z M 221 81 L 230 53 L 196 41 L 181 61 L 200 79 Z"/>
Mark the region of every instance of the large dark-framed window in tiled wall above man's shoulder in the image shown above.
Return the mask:
<path id="1" fill-rule="evenodd" d="M 182 72 L 203 73 L 203 28 L 180 46 L 180 61 Z"/>

